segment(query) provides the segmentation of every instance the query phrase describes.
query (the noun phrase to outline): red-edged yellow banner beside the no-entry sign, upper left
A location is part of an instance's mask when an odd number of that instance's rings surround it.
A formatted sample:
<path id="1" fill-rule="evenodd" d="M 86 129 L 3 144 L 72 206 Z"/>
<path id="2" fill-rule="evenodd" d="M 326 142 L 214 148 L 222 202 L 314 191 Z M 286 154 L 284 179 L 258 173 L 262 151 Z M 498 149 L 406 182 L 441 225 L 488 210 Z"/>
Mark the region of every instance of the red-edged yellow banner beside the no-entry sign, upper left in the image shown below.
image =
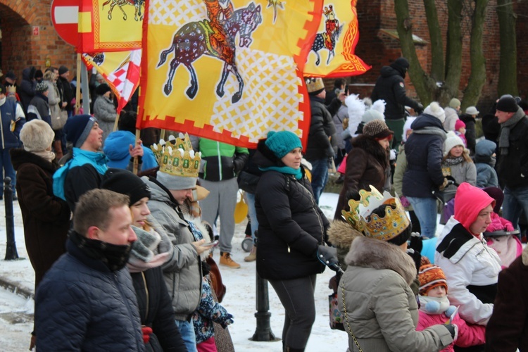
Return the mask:
<path id="1" fill-rule="evenodd" d="M 144 0 L 80 0 L 78 53 L 141 49 Z"/>

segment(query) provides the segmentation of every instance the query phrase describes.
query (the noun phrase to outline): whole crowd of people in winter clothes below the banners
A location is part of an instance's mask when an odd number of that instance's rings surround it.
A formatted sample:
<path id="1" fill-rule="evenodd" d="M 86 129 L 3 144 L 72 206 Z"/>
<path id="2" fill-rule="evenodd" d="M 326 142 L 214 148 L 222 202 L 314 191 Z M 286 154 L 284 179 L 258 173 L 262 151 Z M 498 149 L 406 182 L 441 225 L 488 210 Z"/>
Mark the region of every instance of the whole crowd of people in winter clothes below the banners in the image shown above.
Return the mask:
<path id="1" fill-rule="evenodd" d="M 327 267 L 350 351 L 528 351 L 528 250 L 515 231 L 528 214 L 524 101 L 501 96 L 482 139 L 476 107 L 408 98 L 408 68 L 382 68 L 367 99 L 344 80 L 327 92 L 306 78 L 306 148 L 297 131 L 270 131 L 253 150 L 187 134 L 144 145 L 103 77 L 92 75 L 90 115 L 73 112 L 65 66 L 26 68 L 18 86 L 7 73 L 1 167 L 35 271 L 31 348 L 234 351 L 213 246 L 221 268 L 241 267 L 231 252 L 243 189 L 244 261 L 284 306 L 283 351 L 305 350 Z M 334 167 L 330 221 L 319 199 Z"/>

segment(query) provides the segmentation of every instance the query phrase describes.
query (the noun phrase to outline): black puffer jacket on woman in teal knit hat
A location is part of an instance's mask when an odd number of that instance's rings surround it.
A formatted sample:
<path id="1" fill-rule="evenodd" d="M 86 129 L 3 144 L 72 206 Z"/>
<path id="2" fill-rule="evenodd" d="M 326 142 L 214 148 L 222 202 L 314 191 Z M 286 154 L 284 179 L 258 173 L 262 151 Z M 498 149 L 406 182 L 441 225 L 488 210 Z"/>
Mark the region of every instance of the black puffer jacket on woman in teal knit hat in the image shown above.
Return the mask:
<path id="1" fill-rule="evenodd" d="M 261 167 L 284 166 L 263 142 L 254 161 Z M 318 274 L 325 265 L 316 258 L 329 222 L 313 199 L 303 176 L 268 170 L 258 182 L 255 208 L 258 218 L 257 272 L 264 279 L 296 279 Z"/>

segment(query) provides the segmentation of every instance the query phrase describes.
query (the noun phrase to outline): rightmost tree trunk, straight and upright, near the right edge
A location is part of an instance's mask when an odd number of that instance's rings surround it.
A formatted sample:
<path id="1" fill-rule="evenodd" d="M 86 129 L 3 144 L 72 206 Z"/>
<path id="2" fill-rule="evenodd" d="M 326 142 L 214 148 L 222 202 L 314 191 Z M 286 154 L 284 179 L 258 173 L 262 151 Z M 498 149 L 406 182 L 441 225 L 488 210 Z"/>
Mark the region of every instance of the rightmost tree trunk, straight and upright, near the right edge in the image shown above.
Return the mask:
<path id="1" fill-rule="evenodd" d="M 501 38 L 501 63 L 498 73 L 498 96 L 503 94 L 519 95 L 517 87 L 517 37 L 511 0 L 497 0 L 498 30 Z"/>

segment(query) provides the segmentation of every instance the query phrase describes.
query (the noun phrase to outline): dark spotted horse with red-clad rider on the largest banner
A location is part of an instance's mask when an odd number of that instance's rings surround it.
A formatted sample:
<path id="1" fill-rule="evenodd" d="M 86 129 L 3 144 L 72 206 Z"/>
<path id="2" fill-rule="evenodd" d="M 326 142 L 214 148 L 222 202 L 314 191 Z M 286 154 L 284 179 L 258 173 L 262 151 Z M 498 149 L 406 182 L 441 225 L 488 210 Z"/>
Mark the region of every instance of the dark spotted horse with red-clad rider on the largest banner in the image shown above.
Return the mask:
<path id="1" fill-rule="evenodd" d="M 156 68 L 161 67 L 167 56 L 174 51 L 174 58 L 170 61 L 167 81 L 163 87 L 165 96 L 172 92 L 172 80 L 177 67 L 182 64 L 189 71 L 191 82 L 185 93 L 189 99 L 194 99 L 198 92 L 198 79 L 193 63 L 203 55 L 218 58 L 224 62 L 220 82 L 216 87 L 216 95 L 224 96 L 224 85 L 229 73 L 237 77 L 238 92 L 232 96 L 232 103 L 240 100 L 244 91 L 244 80 L 237 70 L 235 39 L 239 35 L 239 46 L 251 46 L 251 34 L 262 23 L 260 5 L 251 2 L 248 6 L 234 11 L 231 1 L 226 1 L 222 6 L 218 0 L 204 0 L 207 8 L 208 19 L 184 24 L 172 38 L 168 49 L 161 51 L 160 61 Z"/>

